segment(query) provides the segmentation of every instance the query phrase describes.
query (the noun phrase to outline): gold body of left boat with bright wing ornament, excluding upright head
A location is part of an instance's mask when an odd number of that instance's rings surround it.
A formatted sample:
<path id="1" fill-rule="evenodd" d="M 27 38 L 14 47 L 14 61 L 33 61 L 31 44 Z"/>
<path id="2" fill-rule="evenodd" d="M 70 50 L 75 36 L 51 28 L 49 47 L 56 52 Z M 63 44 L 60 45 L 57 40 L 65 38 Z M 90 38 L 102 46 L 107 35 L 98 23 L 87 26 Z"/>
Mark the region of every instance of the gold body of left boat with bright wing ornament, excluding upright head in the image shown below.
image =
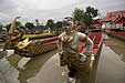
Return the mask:
<path id="1" fill-rule="evenodd" d="M 52 41 L 53 40 L 53 41 Z M 28 41 L 25 39 L 15 46 L 15 53 L 22 56 L 35 56 L 41 53 L 45 53 L 48 51 L 56 49 L 56 41 L 58 38 L 53 38 L 51 40 L 34 40 Z M 51 41 L 51 42 L 49 42 Z"/>

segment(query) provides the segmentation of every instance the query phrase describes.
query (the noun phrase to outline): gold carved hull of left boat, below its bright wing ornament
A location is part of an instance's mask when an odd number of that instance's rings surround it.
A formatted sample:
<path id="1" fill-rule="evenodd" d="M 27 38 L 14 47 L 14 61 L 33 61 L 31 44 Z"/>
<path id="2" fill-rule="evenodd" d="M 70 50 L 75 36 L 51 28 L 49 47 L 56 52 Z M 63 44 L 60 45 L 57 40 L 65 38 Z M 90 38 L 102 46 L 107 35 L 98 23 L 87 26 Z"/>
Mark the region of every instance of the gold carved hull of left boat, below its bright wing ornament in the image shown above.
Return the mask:
<path id="1" fill-rule="evenodd" d="M 14 51 L 17 54 L 21 56 L 32 58 L 56 49 L 58 48 L 56 43 L 58 43 L 58 37 L 53 37 L 53 38 L 44 39 L 43 41 L 39 41 L 39 40 L 32 41 L 23 49 L 15 46 Z"/>

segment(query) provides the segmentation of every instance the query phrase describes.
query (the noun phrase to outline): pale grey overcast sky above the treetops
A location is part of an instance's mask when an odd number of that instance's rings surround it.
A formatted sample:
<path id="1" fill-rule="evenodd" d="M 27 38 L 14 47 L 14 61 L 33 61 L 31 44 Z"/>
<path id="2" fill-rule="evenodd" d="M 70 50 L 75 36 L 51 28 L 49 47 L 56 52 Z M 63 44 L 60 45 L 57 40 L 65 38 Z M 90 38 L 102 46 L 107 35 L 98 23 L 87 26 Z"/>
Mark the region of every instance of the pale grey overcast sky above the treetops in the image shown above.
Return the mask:
<path id="1" fill-rule="evenodd" d="M 125 10 L 125 0 L 0 0 L 0 23 L 10 23 L 17 15 L 22 17 L 20 21 L 23 23 L 35 19 L 45 23 L 49 18 L 62 20 L 75 8 L 88 6 L 98 9 L 105 17 L 106 12 Z"/>

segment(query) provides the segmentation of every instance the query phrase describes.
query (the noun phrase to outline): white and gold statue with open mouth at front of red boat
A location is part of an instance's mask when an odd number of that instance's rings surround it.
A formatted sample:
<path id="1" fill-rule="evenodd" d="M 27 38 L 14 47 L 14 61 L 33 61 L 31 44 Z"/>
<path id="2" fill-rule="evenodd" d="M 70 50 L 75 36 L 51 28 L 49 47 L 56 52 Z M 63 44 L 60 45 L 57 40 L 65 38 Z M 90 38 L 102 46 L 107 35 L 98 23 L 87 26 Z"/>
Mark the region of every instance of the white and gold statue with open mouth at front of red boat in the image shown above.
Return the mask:
<path id="1" fill-rule="evenodd" d="M 62 28 L 64 32 L 59 35 L 58 50 L 60 65 L 67 65 L 71 79 L 81 79 L 92 70 L 93 41 L 84 33 L 76 31 L 75 20 L 69 15 L 63 19 Z M 86 52 L 80 53 L 79 42 L 86 43 Z"/>

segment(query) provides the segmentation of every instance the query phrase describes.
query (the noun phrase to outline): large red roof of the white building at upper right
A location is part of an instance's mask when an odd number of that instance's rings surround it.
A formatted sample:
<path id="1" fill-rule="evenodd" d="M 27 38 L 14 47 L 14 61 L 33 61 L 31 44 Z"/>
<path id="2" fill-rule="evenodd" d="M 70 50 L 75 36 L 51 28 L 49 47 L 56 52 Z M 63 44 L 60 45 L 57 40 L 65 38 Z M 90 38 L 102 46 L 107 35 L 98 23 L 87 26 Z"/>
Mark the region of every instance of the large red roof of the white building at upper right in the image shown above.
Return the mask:
<path id="1" fill-rule="evenodd" d="M 125 10 L 107 12 L 106 17 L 101 20 L 101 22 L 115 21 L 119 17 L 125 17 Z"/>

